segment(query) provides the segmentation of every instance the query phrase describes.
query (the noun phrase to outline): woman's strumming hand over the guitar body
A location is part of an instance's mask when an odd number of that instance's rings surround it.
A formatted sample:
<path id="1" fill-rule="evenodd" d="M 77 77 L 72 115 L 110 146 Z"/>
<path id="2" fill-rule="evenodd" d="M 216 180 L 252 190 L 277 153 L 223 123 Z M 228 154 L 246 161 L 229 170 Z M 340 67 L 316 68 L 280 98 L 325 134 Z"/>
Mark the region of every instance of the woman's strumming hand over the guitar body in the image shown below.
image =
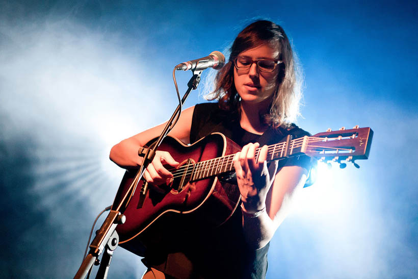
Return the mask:
<path id="1" fill-rule="evenodd" d="M 168 171 L 164 165 L 177 167 L 178 162 L 171 157 L 167 151 L 155 151 L 152 162 L 148 165 L 144 172 L 145 180 L 154 186 L 168 185 L 173 178 L 173 174 Z"/>

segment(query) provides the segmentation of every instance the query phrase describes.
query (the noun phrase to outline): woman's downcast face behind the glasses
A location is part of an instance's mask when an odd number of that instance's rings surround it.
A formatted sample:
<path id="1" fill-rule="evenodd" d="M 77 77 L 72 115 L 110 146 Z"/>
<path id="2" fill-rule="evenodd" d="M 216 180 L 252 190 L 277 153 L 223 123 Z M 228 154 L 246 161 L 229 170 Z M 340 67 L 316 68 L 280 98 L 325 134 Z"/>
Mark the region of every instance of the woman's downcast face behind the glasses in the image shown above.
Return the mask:
<path id="1" fill-rule="evenodd" d="M 238 57 L 246 57 L 251 60 L 270 59 L 278 60 L 279 51 L 271 44 L 262 44 L 240 53 Z M 239 70 L 234 67 L 233 80 L 235 88 L 241 97 L 241 102 L 248 104 L 267 103 L 270 104 L 277 85 L 279 66 L 276 65 L 272 72 L 263 72 L 252 63 L 249 69 Z"/>

